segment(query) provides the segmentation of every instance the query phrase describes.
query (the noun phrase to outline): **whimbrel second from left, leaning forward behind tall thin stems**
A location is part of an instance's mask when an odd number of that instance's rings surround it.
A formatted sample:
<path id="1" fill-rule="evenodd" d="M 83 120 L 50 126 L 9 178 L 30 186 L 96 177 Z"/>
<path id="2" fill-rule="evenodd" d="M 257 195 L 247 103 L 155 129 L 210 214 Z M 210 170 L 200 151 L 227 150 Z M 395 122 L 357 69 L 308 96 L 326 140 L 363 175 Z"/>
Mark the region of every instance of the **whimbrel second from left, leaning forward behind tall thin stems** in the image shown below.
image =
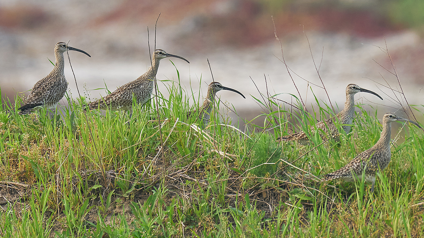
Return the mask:
<path id="1" fill-rule="evenodd" d="M 181 56 L 171 55 L 160 49 L 155 50 L 152 55 L 152 65 L 148 68 L 147 72 L 138 77 L 136 80 L 120 86 L 118 89 L 100 100 L 90 102 L 84 109 L 87 110 L 88 108 L 89 110 L 92 110 L 109 108 L 109 110 L 126 110 L 130 111 L 131 117 L 133 97 L 135 97 L 136 102 L 141 105 L 150 100 L 154 80 L 159 68 L 159 61 L 167 57 L 180 58 L 190 64 L 188 60 Z"/>

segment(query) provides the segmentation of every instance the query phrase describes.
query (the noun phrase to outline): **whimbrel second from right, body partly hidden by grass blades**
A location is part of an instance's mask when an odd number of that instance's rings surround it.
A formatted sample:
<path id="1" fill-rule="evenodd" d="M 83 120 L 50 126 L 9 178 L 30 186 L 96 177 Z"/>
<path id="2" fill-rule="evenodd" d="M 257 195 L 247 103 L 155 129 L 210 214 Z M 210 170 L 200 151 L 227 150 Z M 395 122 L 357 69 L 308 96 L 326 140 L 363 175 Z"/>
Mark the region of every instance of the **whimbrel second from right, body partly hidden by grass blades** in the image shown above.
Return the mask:
<path id="1" fill-rule="evenodd" d="M 338 122 L 339 124 L 343 125 L 343 130 L 346 133 L 349 133 L 350 131 L 350 126 L 352 124 L 353 121 L 353 116 L 355 113 L 354 110 L 354 105 L 355 105 L 355 94 L 359 93 L 359 92 L 366 92 L 366 93 L 370 93 L 370 94 L 374 94 L 377 97 L 379 97 L 381 100 L 383 100 L 382 97 L 380 97 L 380 95 L 378 95 L 377 93 L 370 91 L 368 89 L 363 89 L 360 86 L 357 86 L 356 84 L 349 84 L 346 87 L 346 102 L 345 102 L 345 107 L 343 108 L 343 111 L 340 111 L 339 113 L 337 113 L 335 116 L 333 116 L 332 118 L 326 119 L 324 121 L 318 122 L 315 126 L 316 129 L 318 130 L 321 138 L 324 138 L 325 134 L 332 136 L 333 138 L 338 138 L 338 130 L 337 127 L 335 125 L 335 122 Z M 310 133 L 311 135 L 313 135 L 315 133 L 315 127 L 312 126 L 310 127 Z M 322 130 L 322 131 L 321 131 Z M 294 133 L 288 136 L 282 136 L 277 138 L 277 141 L 298 141 L 301 142 L 302 144 L 307 144 L 308 141 L 308 137 L 307 134 L 304 133 L 303 131 L 298 132 L 298 133 Z"/>

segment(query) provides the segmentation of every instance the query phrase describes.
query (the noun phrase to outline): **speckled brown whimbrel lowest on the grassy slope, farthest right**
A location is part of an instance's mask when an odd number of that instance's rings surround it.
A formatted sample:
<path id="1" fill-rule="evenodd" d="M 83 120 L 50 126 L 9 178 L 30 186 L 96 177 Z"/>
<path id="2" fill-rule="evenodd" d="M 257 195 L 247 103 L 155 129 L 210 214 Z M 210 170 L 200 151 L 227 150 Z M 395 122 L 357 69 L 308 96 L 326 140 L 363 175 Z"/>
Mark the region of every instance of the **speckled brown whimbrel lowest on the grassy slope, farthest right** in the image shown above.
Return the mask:
<path id="1" fill-rule="evenodd" d="M 345 181 L 364 180 L 372 183 L 371 192 L 374 191 L 376 173 L 385 169 L 391 158 L 390 138 L 391 123 L 396 121 L 410 122 L 421 128 L 416 122 L 396 116 L 393 113 L 386 113 L 383 116 L 383 130 L 377 143 L 357 155 L 343 168 L 325 174 L 325 180 L 342 179 Z"/>

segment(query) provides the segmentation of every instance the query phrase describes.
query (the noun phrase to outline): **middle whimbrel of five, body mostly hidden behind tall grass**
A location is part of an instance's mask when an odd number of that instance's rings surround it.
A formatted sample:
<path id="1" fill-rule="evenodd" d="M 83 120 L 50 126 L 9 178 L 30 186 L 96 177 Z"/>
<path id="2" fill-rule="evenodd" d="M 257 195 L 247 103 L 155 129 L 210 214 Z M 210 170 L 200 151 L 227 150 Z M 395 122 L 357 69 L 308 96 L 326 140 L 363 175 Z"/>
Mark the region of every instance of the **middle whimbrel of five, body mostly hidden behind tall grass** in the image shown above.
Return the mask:
<path id="1" fill-rule="evenodd" d="M 233 91 L 233 92 L 240 94 L 243 98 L 246 98 L 246 97 L 244 97 L 243 94 L 241 94 L 239 91 L 237 91 L 235 89 L 230 89 L 230 88 L 224 87 L 224 86 L 222 86 L 222 84 L 220 84 L 218 82 L 212 82 L 208 86 L 208 93 L 207 93 L 206 99 L 204 100 L 201 108 L 199 108 L 198 110 L 195 110 L 195 111 L 189 111 L 187 113 L 187 118 L 192 117 L 194 115 L 198 115 L 198 120 L 199 120 L 202 128 L 204 128 L 207 124 L 209 124 L 211 112 L 212 112 L 212 107 L 214 105 L 215 94 L 218 91 L 221 91 L 221 90 Z"/>

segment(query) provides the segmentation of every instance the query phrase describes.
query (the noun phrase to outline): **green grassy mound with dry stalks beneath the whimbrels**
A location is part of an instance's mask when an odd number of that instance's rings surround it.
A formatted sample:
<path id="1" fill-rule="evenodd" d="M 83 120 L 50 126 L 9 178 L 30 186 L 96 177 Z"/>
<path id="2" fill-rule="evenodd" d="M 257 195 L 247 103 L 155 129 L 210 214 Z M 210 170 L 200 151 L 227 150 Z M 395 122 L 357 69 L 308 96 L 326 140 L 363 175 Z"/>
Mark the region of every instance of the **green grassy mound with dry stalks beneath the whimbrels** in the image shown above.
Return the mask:
<path id="1" fill-rule="evenodd" d="M 291 133 L 295 120 L 307 129 L 323 119 L 315 114 L 330 112 L 326 105 L 312 115 L 289 113 L 264 97 L 266 102 L 257 100 L 268 108 L 264 125 L 248 123 L 241 132 L 218 113 L 223 107 L 217 102 L 211 124 L 201 130 L 185 116 L 198 108 L 189 103 L 192 94 L 179 82 L 163 83 L 171 96 L 159 94 L 159 108 L 153 100 L 134 105 L 132 118 L 120 111 L 84 113 L 82 102 L 69 97 L 69 106 L 55 116 L 43 110 L 19 116 L 1 102 L 0 236 L 424 234 L 424 139 L 418 128 L 399 124 L 402 138 L 393 129 L 391 163 L 371 194 L 367 183 L 320 182 L 319 175 L 378 140 L 376 113 L 358 107 L 352 132 L 340 142 L 310 135 L 311 143 L 301 146 L 275 138 Z"/>

